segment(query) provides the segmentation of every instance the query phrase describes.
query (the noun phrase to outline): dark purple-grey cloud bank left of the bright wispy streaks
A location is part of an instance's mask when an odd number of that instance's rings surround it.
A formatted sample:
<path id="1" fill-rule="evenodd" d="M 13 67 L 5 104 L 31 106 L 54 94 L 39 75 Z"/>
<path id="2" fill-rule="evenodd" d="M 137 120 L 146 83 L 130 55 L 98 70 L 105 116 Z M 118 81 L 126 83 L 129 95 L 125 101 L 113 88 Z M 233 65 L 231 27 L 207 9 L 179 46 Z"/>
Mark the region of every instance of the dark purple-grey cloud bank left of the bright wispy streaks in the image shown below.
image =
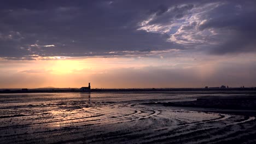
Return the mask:
<path id="1" fill-rule="evenodd" d="M 1 6 L 1 34 L 19 32 L 23 39 L 1 39 L 0 56 L 88 56 L 88 53 L 91 56 L 111 51 L 177 49 L 178 46 L 166 41 L 166 34 L 137 31 L 138 22 L 148 14 L 150 7 L 153 8 L 153 5 L 144 7 L 141 2 L 137 4 L 121 1 L 5 2 Z"/>

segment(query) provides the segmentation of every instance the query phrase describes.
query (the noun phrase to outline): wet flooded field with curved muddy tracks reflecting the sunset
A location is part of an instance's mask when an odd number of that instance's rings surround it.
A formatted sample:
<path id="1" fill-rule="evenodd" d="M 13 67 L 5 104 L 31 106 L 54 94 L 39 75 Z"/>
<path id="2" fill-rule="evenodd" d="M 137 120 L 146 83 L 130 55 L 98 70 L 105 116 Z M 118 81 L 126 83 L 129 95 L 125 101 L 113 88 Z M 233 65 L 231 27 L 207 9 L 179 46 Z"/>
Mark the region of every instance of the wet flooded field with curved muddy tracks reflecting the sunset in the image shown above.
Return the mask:
<path id="1" fill-rule="evenodd" d="M 255 143 L 254 111 L 158 104 L 209 95 L 248 94 L 0 94 L 0 143 Z"/>

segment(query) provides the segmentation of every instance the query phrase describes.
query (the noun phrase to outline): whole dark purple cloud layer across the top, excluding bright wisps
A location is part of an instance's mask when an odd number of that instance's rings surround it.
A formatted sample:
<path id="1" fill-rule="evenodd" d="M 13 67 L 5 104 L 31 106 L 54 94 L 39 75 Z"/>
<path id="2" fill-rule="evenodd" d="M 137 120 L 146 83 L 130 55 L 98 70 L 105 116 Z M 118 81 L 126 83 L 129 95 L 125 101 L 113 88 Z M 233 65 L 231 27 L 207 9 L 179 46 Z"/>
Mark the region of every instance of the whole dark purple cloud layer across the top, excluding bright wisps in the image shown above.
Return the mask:
<path id="1" fill-rule="evenodd" d="M 174 21 L 193 15 L 191 10 L 212 3 L 202 2 L 0 2 L 0 57 L 31 59 L 34 56 L 109 56 L 112 55 L 109 52 L 115 51 L 185 49 L 183 44 L 168 40 L 170 34 L 144 31 L 139 29 L 139 25 L 154 14 L 156 16 L 149 25 L 170 25 Z M 254 3 L 226 3 L 227 8 L 220 7 L 201 16 L 202 20 L 208 21 L 199 26 L 199 31 L 211 28 L 224 31 L 231 29 L 234 33 L 234 38 L 224 40 L 225 43 L 217 45 L 217 48 L 210 47 L 211 52 L 255 50 L 251 46 L 255 44 L 255 20 L 252 19 L 255 10 L 252 6 L 248 7 Z M 194 24 L 184 26 L 183 30 L 195 29 Z M 246 47 L 242 47 L 244 45 Z"/>

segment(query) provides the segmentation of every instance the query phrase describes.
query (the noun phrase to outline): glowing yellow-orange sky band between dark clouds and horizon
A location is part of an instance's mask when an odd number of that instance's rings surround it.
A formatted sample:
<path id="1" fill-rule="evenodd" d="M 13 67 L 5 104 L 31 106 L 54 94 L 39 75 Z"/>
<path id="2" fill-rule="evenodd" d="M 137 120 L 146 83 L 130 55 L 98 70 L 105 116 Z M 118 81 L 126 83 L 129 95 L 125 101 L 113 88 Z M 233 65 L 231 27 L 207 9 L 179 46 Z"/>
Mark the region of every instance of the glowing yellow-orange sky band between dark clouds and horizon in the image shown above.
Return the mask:
<path id="1" fill-rule="evenodd" d="M 88 82 L 92 88 L 254 86 L 255 61 L 251 59 L 255 55 L 246 57 L 197 55 L 195 59 L 185 55 L 0 61 L 3 81 L 0 88 L 81 87 Z M 237 79 L 232 79 L 234 76 Z"/>

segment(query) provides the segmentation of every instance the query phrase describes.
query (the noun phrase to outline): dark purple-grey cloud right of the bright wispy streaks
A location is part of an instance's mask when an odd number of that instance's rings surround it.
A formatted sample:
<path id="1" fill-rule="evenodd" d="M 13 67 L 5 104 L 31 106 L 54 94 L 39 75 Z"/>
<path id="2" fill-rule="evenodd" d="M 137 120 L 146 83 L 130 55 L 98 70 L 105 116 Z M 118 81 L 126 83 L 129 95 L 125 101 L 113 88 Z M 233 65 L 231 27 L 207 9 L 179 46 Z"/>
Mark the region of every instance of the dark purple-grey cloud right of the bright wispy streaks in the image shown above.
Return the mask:
<path id="1" fill-rule="evenodd" d="M 249 9 L 245 5 L 225 4 L 211 11 L 205 17 L 207 21 L 199 29 L 216 29 L 222 35 L 229 35 L 223 40 L 223 44 L 213 47 L 210 52 L 222 55 L 256 51 L 255 14 L 256 9 Z"/>

